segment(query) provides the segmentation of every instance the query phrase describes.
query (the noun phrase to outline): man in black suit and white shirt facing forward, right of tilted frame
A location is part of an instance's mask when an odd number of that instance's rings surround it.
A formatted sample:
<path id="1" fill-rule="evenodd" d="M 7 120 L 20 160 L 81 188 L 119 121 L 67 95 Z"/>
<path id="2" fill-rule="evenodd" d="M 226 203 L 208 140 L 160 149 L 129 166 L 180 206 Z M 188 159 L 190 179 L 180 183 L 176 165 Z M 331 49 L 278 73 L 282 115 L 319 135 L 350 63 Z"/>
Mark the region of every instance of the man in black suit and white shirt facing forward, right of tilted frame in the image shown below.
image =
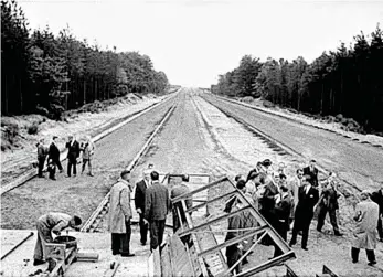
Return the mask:
<path id="1" fill-rule="evenodd" d="M 309 228 L 313 216 L 313 207 L 319 200 L 319 192 L 311 185 L 311 177 L 304 177 L 304 185 L 299 188 L 298 204 L 295 211 L 295 223 L 290 246 L 297 243 L 298 231 L 302 231 L 301 248 L 308 251 L 307 241 Z"/>

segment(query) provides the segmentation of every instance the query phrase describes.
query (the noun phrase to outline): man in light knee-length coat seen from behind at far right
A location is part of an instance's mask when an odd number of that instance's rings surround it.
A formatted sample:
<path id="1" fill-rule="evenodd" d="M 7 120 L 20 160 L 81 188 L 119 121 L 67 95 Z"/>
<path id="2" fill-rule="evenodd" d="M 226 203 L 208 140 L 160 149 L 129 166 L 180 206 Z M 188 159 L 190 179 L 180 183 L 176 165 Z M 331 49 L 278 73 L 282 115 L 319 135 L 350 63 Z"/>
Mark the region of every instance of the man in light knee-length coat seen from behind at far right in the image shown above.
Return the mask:
<path id="1" fill-rule="evenodd" d="M 379 205 L 371 201 L 369 191 L 362 191 L 361 202 L 355 206 L 353 219 L 357 225 L 352 233 L 352 263 L 358 263 L 359 252 L 361 248 L 364 248 L 369 259 L 369 266 L 373 266 L 376 264 L 374 249 L 376 248 L 377 241 Z"/>

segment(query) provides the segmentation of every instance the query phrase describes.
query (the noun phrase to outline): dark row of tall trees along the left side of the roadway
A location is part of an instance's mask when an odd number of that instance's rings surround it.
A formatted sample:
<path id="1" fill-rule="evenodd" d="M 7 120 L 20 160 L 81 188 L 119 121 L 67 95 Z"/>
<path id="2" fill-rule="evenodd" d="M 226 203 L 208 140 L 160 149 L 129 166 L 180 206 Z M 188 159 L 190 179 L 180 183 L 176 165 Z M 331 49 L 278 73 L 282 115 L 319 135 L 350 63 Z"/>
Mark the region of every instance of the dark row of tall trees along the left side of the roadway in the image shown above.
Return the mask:
<path id="1" fill-rule="evenodd" d="M 77 40 L 68 28 L 28 28 L 18 3 L 1 1 L 1 114 L 39 113 L 60 119 L 64 110 L 128 93 L 161 93 L 163 72 L 137 52 L 100 50 Z"/>

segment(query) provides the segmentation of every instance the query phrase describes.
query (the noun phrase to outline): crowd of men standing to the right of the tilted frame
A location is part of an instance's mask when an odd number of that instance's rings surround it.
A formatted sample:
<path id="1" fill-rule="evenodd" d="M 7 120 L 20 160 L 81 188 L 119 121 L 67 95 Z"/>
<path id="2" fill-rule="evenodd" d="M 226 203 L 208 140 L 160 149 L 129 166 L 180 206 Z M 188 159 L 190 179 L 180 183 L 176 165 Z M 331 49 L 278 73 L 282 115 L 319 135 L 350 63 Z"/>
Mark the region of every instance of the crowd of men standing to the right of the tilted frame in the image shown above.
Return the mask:
<path id="1" fill-rule="evenodd" d="M 325 219 L 329 213 L 330 223 L 336 236 L 342 236 L 337 223 L 337 210 L 339 210 L 338 199 L 341 195 L 338 192 L 338 181 L 336 174 L 330 172 L 323 181 L 318 180 L 318 169 L 316 161 L 311 160 L 309 164 L 296 171 L 294 178 L 287 178 L 285 164 L 280 163 L 277 170 L 273 171 L 272 161 L 266 159 L 256 164 L 251 170 L 247 178 L 237 175 L 235 178 L 236 187 L 241 190 L 248 202 L 259 211 L 276 232 L 287 241 L 288 231 L 292 227 L 292 234 L 289 245 L 297 243 L 298 234 L 301 235 L 301 248 L 308 251 L 307 243 L 309 227 L 315 213 L 318 215 L 317 231 L 322 232 Z M 371 198 L 370 198 L 371 196 Z M 236 200 L 241 202 L 240 200 Z M 376 203 L 374 203 L 375 201 Z M 227 205 L 233 205 L 227 202 Z M 236 203 L 241 206 L 243 203 Z M 228 212 L 231 209 L 227 209 Z M 358 262 L 360 248 L 366 249 L 369 265 L 376 264 L 374 248 L 376 247 L 376 228 L 383 238 L 382 221 L 383 213 L 383 187 L 374 193 L 363 191 L 361 193 L 361 203 L 355 207 L 354 216 L 355 230 L 352 242 L 352 262 Z M 380 215 L 379 215 L 380 214 Z M 240 216 L 243 216 L 241 219 Z M 241 230 L 249 227 L 254 223 L 246 222 L 248 219 L 242 213 L 234 216 L 228 222 L 228 230 Z M 226 239 L 240 234 L 240 232 L 228 232 Z M 274 257 L 279 256 L 281 251 L 270 239 L 262 242 L 266 245 L 274 245 Z M 227 247 L 226 256 L 228 266 L 234 265 L 242 255 L 244 245 L 237 244 L 236 247 Z M 244 259 L 243 264 L 246 263 Z M 236 270 L 241 270 L 238 264 Z"/>

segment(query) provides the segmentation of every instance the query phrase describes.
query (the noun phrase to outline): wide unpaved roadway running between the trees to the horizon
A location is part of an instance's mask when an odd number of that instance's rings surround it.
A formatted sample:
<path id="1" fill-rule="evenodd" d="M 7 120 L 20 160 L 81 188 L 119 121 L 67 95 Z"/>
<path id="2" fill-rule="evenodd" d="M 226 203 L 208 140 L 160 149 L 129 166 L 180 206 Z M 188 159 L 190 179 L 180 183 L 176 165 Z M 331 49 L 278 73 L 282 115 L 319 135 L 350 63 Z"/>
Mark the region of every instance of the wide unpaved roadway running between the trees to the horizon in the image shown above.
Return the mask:
<path id="1" fill-rule="evenodd" d="M 149 162 L 155 163 L 156 170 L 161 173 L 208 173 L 212 175 L 212 179 L 223 174 L 232 178 L 237 173 L 246 174 L 257 161 L 265 158 L 269 158 L 276 164 L 281 161 L 285 162 L 288 166 L 289 174 L 305 164 L 306 159 L 280 155 L 280 152 L 269 148 L 252 131 L 201 98 L 200 94 L 196 89 L 183 89 L 179 94 L 178 106 L 173 115 L 155 138 L 147 155 L 139 161 L 132 174 L 132 182 L 139 180 L 141 171 Z M 204 97 L 212 99 L 212 96 Z M 219 99 L 214 99 L 214 103 L 228 106 L 228 104 L 220 103 Z M 170 105 L 170 103 L 162 105 L 162 108 L 157 109 L 157 115 L 151 113 L 103 139 L 97 145 L 95 178 L 64 179 L 63 175 L 60 175 L 57 182 L 35 179 L 31 183 L 4 194 L 1 211 L 2 227 L 33 227 L 38 213 L 32 210 L 35 209 L 41 214 L 49 211 L 45 205 L 49 207 L 56 205 L 56 210 L 77 212 L 83 216 L 89 214 L 106 194 L 121 168 L 129 163 L 139 147 L 143 145 L 145 138 L 149 137 L 152 127 L 162 118 Z M 363 150 L 364 146 L 358 143 L 353 146 L 344 138 L 338 136 L 332 138 L 333 135 L 322 130 L 311 130 L 307 126 L 290 121 L 285 122 L 280 118 L 264 118 L 263 115 L 256 115 L 256 111 L 243 107 L 233 106 L 231 111 L 242 113 L 244 119 L 247 118 L 249 121 L 256 121 L 259 126 L 265 126 L 265 131 L 272 136 L 275 135 L 278 139 L 284 139 L 284 143 L 295 141 L 295 145 L 289 146 L 297 147 L 297 151 L 301 151 L 309 158 L 316 158 L 323 164 L 334 167 L 334 171 L 342 178 L 348 177 L 347 170 L 351 169 L 353 164 L 359 166 L 352 161 L 352 158 L 347 158 L 353 149 L 357 149 L 355 151 L 363 161 L 370 159 L 365 155 L 374 155 L 375 158 L 379 156 L 375 149 L 365 148 L 368 150 Z M 263 122 L 263 120 L 266 121 Z M 305 134 L 308 134 L 308 137 Z M 327 137 L 329 140 L 326 140 Z M 339 148 L 342 145 L 344 148 Z M 331 147 L 336 150 L 326 156 L 326 149 Z M 333 158 L 330 158 L 331 155 Z M 337 162 L 336 159 L 339 161 Z M 381 158 L 377 157 L 376 159 Z M 377 162 L 373 161 L 370 164 L 376 167 Z M 371 172 L 373 180 L 380 178 L 379 173 L 374 174 L 374 170 L 370 169 L 369 171 L 368 168 L 362 167 L 365 175 Z M 338 171 L 338 169 L 340 170 Z M 358 185 L 361 185 L 360 189 L 364 188 L 361 183 Z M 350 201 L 341 200 L 340 209 L 342 219 L 351 216 L 352 203 Z M 4 225 L 6 223 L 8 225 Z M 315 226 L 316 222 L 311 224 L 309 251 L 305 252 L 299 247 L 300 241 L 298 238 L 298 245 L 294 248 L 297 259 L 288 262 L 288 265 L 297 271 L 298 276 L 315 276 L 321 273 L 323 264 L 332 268 L 339 276 L 383 276 L 383 248 L 381 244 L 376 251 L 376 259 L 379 260 L 376 267 L 366 266 L 363 252 L 361 252 L 360 263 L 352 264 L 349 235 L 351 223 L 348 222 L 345 226 L 344 224 L 341 226 L 345 233 L 344 237 L 334 237 L 328 223 L 323 227 L 323 233 L 315 231 Z M 257 246 L 252 255 L 253 258 L 249 258 L 249 265 L 260 257 L 264 260 L 267 259 L 273 255 L 273 247 Z M 285 273 L 284 267 L 274 267 L 260 276 L 283 276 Z"/>

